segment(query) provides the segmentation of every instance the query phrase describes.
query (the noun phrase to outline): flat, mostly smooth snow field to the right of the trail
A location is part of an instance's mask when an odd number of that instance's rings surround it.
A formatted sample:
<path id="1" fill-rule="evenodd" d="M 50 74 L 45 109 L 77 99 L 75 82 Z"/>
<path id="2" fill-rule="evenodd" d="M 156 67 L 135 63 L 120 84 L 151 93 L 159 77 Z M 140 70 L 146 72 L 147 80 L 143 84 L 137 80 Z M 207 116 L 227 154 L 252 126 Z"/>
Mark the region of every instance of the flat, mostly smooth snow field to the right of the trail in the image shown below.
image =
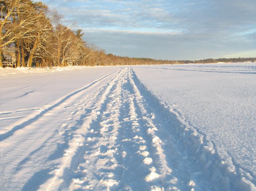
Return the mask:
<path id="1" fill-rule="evenodd" d="M 217 152 L 221 160 L 234 165 L 230 171 L 256 183 L 254 63 L 136 66 L 133 70 L 179 118 L 212 142 L 214 150 L 204 147 L 204 152 Z M 201 144 L 196 142 L 195 147 Z"/>

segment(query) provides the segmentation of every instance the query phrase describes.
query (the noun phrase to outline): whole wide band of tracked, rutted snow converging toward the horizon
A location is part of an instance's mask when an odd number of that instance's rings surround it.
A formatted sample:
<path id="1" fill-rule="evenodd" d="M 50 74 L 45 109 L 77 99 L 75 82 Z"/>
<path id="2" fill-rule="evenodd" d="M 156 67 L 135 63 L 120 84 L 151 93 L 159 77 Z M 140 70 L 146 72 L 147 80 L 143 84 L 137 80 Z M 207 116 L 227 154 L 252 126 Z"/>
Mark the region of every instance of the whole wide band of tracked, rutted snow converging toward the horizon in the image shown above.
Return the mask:
<path id="1" fill-rule="evenodd" d="M 256 190 L 250 172 L 223 161 L 131 67 L 51 105 L 0 113 L 10 115 L 1 190 Z"/>

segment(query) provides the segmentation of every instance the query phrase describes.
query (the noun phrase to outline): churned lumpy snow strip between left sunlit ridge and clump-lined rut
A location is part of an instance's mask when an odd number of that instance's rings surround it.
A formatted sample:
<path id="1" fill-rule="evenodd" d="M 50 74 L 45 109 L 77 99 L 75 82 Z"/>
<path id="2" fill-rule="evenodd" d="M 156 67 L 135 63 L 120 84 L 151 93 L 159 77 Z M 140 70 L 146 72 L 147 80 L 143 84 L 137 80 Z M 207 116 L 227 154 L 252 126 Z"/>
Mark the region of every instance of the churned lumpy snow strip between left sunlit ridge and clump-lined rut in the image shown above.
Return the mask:
<path id="1" fill-rule="evenodd" d="M 98 182 L 91 178 L 95 176 L 99 178 L 103 176 L 102 174 L 107 174 L 108 178 L 107 180 L 100 179 L 100 185 L 97 188 L 100 187 L 100 189 L 104 190 L 117 184 L 115 180 L 109 179 L 109 177 L 114 176 L 113 173 L 104 171 L 109 171 L 109 168 L 118 168 L 117 162 L 115 158 L 113 158 L 113 153 L 117 151 L 117 148 L 115 148 L 115 140 L 117 129 L 119 128 L 118 114 L 120 102 L 117 95 L 119 95 L 119 87 L 121 85 L 120 78 L 124 75 L 124 72 L 125 69 L 123 73 L 116 78 L 116 81 L 112 82 L 111 89 L 105 92 L 104 99 L 101 100 L 101 106 L 96 110 L 99 113 L 90 123 L 90 131 L 85 135 L 85 147 L 82 153 L 84 155 L 79 158 L 80 163 L 76 160 L 75 168 L 73 167 L 76 174 L 81 174 L 82 172 L 85 173 L 86 176 L 83 177 L 79 175 L 77 178 L 72 179 L 72 181 L 70 181 L 70 176 L 67 176 L 67 181 L 64 181 L 64 185 L 61 185 L 61 189 L 67 186 L 69 187 L 68 190 L 72 190 L 79 188 L 81 185 L 83 185 L 83 189 L 86 190 L 90 188 L 95 189 L 97 187 L 95 185 L 97 185 Z M 102 165 L 102 163 L 107 163 L 104 162 L 107 158 L 109 164 L 106 166 Z M 96 175 L 97 173 L 99 174 Z"/>

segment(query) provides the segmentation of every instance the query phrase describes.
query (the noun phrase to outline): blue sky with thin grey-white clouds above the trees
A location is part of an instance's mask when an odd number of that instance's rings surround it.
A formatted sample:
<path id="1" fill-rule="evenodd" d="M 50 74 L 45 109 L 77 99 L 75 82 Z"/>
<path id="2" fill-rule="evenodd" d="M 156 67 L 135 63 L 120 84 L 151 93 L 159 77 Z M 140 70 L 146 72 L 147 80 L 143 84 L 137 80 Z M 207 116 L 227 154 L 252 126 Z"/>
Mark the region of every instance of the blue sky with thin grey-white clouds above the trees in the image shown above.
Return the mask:
<path id="1" fill-rule="evenodd" d="M 106 53 L 194 60 L 256 57 L 255 0 L 43 0 Z"/>

